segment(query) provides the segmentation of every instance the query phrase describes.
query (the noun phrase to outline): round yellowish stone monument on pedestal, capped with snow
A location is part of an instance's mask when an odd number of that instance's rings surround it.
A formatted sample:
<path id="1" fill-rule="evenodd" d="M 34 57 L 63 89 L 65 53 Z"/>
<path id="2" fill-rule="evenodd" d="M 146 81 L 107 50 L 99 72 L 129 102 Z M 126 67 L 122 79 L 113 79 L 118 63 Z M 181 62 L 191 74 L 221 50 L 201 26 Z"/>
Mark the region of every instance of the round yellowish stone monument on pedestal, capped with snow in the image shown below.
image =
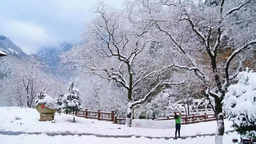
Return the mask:
<path id="1" fill-rule="evenodd" d="M 52 97 L 45 96 L 36 103 L 36 110 L 40 113 L 40 121 L 54 120 L 57 104 Z"/>

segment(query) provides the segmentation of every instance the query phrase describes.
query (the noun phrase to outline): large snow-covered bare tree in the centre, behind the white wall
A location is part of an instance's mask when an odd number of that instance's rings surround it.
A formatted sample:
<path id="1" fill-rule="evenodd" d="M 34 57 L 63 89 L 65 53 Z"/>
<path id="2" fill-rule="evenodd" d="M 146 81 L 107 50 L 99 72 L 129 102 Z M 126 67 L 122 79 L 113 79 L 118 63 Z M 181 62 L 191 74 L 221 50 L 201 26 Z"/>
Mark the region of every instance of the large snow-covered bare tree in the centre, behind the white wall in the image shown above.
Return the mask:
<path id="1" fill-rule="evenodd" d="M 62 55 L 62 63 L 70 69 L 84 66 L 86 73 L 121 84 L 128 91 L 126 124 L 129 125 L 133 106 L 145 102 L 159 86 L 176 85 L 184 81 L 172 83 L 162 80 L 161 74 L 173 65 L 152 69 L 149 64 L 141 66 L 141 56 L 145 54 L 150 42 L 153 42 L 148 37 L 152 24 L 138 30 L 131 16 L 124 11 L 123 16 L 120 16 L 104 4 L 96 8 L 95 14 L 95 19 L 85 32 L 85 44 Z M 152 85 L 142 98 L 136 100 L 133 90 L 146 79 L 150 79 Z"/>

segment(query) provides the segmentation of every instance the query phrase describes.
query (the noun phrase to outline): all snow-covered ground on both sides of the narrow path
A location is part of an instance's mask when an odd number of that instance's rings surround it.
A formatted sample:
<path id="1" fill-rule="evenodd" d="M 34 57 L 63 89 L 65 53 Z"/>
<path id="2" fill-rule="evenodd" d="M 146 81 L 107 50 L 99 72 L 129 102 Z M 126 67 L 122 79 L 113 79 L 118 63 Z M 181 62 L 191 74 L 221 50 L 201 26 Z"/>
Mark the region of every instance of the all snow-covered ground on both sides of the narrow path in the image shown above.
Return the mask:
<path id="1" fill-rule="evenodd" d="M 170 129 L 150 129 L 150 128 L 128 128 L 124 125 L 112 124 L 112 122 L 104 122 L 98 120 L 91 120 L 85 118 L 76 117 L 76 122 L 73 123 L 73 116 L 67 114 L 55 115 L 56 123 L 50 121 L 40 122 L 39 113 L 36 109 L 32 108 L 20 108 L 20 107 L 0 107 L 0 132 L 29 132 L 29 133 L 55 133 L 56 136 L 48 136 L 46 134 L 19 134 L 19 135 L 2 135 L 0 139 L 4 140 L 4 143 L 14 143 L 16 140 L 21 143 L 32 143 L 33 141 L 39 142 L 44 138 L 45 142 L 66 142 L 72 139 L 72 142 L 87 142 L 88 140 L 96 141 L 97 143 L 116 143 L 121 142 L 122 144 L 136 141 L 136 143 L 170 143 L 172 137 L 174 137 L 174 128 Z M 21 118 L 20 120 L 16 118 Z M 232 131 L 230 128 L 232 122 L 225 120 L 225 131 Z M 182 125 L 181 136 L 190 137 L 196 135 L 212 134 L 216 131 L 216 121 L 212 122 L 201 122 L 197 124 Z M 78 135 L 61 136 L 61 133 L 73 133 Z M 231 134 L 231 135 L 230 135 Z M 87 135 L 87 136 L 86 136 Z M 90 136 L 88 136 L 90 135 Z M 100 135 L 103 138 L 99 138 L 92 135 Z M 110 137 L 110 138 L 106 138 Z M 137 136 L 140 138 L 132 137 Z M 105 137 L 105 138 L 104 138 Z M 119 137 L 119 138 L 112 138 Z M 121 138 L 121 137 L 132 137 L 132 138 Z M 152 139 L 144 138 L 162 138 Z M 164 137 L 170 138 L 164 140 Z M 235 133 L 228 133 L 224 135 L 224 141 L 231 142 L 232 138 L 238 138 L 239 136 Z M 56 138 L 56 139 L 55 139 Z M 106 141 L 108 140 L 108 141 Z M 179 141 L 179 144 L 189 142 L 199 143 L 214 142 L 214 136 L 201 136 L 197 138 L 186 138 Z M 224 143 L 226 144 L 226 143 Z"/>

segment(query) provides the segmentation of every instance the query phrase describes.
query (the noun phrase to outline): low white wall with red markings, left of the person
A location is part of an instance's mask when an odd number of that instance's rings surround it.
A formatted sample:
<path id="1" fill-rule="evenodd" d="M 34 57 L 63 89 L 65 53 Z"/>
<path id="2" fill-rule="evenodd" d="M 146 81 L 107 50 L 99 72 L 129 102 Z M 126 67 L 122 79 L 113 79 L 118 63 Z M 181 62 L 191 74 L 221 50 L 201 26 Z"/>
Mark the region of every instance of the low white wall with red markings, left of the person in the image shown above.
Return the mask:
<path id="1" fill-rule="evenodd" d="M 174 120 L 132 120 L 132 127 L 137 128 L 175 128 Z"/>

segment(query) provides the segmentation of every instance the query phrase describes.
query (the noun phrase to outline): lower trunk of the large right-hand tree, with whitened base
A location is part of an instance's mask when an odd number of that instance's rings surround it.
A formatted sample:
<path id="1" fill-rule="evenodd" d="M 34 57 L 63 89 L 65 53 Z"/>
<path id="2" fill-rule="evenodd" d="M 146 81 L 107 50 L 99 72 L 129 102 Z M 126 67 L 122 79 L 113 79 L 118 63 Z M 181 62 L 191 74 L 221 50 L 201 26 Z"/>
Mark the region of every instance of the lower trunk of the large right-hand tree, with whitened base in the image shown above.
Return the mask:
<path id="1" fill-rule="evenodd" d="M 217 119 L 217 130 L 215 133 L 215 144 L 222 144 L 222 139 L 224 135 L 224 118 L 222 113 L 222 104 L 220 99 L 215 100 L 216 106 L 215 106 L 215 114 Z"/>

